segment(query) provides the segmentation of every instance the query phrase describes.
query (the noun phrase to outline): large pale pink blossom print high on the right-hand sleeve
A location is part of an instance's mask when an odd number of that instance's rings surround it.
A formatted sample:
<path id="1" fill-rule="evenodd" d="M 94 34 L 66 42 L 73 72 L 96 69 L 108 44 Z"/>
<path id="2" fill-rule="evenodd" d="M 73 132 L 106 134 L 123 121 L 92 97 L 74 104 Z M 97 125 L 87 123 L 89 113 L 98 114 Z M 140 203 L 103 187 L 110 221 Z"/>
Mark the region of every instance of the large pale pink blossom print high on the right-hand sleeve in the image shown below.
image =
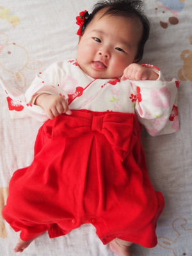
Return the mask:
<path id="1" fill-rule="evenodd" d="M 152 104 L 157 108 L 169 108 L 171 102 L 171 93 L 168 88 L 163 87 L 159 91 L 152 90 L 150 92 Z"/>

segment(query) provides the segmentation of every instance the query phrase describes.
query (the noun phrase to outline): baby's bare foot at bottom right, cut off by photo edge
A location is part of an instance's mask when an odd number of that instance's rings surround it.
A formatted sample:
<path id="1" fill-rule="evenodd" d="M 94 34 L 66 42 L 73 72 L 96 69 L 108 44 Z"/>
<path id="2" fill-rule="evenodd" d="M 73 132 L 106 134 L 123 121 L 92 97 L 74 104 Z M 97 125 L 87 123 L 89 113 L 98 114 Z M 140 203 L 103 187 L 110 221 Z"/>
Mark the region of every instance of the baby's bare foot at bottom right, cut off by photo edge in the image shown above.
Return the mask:
<path id="1" fill-rule="evenodd" d="M 109 244 L 109 247 L 112 252 L 116 253 L 118 256 L 132 256 L 130 251 L 131 242 L 124 241 L 119 238 L 115 238 Z"/>

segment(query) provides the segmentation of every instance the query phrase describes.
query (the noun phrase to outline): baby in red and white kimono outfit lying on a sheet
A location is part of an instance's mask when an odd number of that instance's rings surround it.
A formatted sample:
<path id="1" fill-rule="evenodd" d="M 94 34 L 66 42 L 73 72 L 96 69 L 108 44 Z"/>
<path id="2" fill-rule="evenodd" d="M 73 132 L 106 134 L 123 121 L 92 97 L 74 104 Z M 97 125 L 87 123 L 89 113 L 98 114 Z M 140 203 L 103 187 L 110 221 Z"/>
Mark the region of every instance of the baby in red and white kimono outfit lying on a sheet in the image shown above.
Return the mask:
<path id="1" fill-rule="evenodd" d="M 76 59 L 53 63 L 18 97 L 15 117 L 47 122 L 33 163 L 10 181 L 3 216 L 21 230 L 14 252 L 47 230 L 64 236 L 84 223 L 118 256 L 131 256 L 132 243 L 156 246 L 164 199 L 148 178 L 141 124 L 152 136 L 177 131 L 170 114 L 179 82 L 137 64 L 150 29 L 142 8 L 141 0 L 116 0 L 81 12 Z"/>

